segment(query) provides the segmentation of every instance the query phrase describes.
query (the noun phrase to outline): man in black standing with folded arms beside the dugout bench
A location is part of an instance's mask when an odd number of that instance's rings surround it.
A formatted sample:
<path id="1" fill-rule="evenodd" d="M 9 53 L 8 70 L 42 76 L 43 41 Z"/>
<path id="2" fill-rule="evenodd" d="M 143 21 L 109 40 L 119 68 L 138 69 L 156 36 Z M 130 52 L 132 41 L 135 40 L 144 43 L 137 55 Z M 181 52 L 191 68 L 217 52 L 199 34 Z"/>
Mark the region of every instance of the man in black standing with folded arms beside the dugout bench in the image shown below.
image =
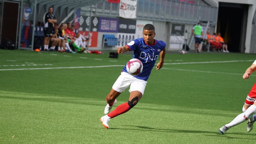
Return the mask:
<path id="1" fill-rule="evenodd" d="M 44 51 L 48 52 L 49 42 L 52 37 L 53 24 L 57 22 L 54 15 L 52 14 L 53 8 L 48 8 L 48 13 L 44 16 Z"/>

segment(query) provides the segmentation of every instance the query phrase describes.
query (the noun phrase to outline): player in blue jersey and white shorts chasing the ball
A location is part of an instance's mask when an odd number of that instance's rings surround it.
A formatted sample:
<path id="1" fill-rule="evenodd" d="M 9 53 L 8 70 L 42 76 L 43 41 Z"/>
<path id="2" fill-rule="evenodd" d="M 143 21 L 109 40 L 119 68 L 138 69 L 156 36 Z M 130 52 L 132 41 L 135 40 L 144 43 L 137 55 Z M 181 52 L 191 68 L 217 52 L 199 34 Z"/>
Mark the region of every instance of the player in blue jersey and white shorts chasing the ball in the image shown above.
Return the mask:
<path id="1" fill-rule="evenodd" d="M 139 75 L 132 76 L 128 74 L 126 65 L 124 66 L 121 75 L 117 78 L 116 82 L 112 86 L 112 89 L 106 97 L 106 101 L 108 103 L 104 110 L 106 115 L 100 118 L 102 125 L 106 129 L 109 128 L 108 121 L 110 118 L 114 118 L 129 111 L 142 98 L 148 77 L 159 55 L 160 62 L 157 64 L 156 69 L 158 70 L 163 67 L 166 44 L 163 41 L 154 39 L 156 36 L 155 27 L 152 24 L 146 24 L 143 27 L 142 35 L 143 37 L 135 39 L 123 47 L 117 48 L 117 53 L 119 54 L 127 51 L 133 51 L 132 58 L 139 59 L 142 62 L 143 70 Z M 129 86 L 130 97 L 128 102 L 119 105 L 115 110 L 110 112 L 111 108 L 116 103 L 116 98 Z"/>

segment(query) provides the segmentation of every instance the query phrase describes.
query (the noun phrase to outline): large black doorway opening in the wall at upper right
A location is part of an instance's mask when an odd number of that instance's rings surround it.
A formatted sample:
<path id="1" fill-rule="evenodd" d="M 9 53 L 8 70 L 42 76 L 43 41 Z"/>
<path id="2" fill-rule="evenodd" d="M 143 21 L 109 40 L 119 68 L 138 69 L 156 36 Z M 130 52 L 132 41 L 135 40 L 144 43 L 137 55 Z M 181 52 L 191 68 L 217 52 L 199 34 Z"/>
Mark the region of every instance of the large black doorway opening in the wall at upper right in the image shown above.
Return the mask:
<path id="1" fill-rule="evenodd" d="M 228 44 L 228 51 L 244 52 L 247 11 L 245 4 L 219 4 L 217 32 Z"/>

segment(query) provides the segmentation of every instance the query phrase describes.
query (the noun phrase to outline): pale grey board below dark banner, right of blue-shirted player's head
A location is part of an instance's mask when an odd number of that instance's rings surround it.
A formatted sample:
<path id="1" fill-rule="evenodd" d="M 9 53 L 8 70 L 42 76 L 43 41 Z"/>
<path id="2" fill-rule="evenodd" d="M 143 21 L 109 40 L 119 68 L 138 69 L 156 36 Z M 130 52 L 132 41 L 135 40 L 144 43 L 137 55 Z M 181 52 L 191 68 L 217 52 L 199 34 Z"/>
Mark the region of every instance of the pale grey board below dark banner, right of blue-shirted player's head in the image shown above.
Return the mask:
<path id="1" fill-rule="evenodd" d="M 170 50 L 181 50 L 182 45 L 184 44 L 184 36 L 170 36 Z"/>

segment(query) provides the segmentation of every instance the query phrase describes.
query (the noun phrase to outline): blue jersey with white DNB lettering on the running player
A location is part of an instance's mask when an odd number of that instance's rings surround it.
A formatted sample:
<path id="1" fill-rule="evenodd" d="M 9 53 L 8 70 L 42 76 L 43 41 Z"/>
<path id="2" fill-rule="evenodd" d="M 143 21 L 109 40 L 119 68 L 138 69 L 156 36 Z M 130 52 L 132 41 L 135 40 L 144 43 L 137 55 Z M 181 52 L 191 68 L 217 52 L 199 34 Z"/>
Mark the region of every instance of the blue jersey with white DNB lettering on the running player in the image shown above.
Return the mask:
<path id="1" fill-rule="evenodd" d="M 144 42 L 142 37 L 135 39 L 126 45 L 130 48 L 130 51 L 133 51 L 132 58 L 139 59 L 143 64 L 142 72 L 134 77 L 147 81 L 160 52 L 164 50 L 166 44 L 163 41 L 155 39 L 155 44 L 148 45 Z M 123 71 L 128 73 L 126 65 L 124 66 Z"/>

